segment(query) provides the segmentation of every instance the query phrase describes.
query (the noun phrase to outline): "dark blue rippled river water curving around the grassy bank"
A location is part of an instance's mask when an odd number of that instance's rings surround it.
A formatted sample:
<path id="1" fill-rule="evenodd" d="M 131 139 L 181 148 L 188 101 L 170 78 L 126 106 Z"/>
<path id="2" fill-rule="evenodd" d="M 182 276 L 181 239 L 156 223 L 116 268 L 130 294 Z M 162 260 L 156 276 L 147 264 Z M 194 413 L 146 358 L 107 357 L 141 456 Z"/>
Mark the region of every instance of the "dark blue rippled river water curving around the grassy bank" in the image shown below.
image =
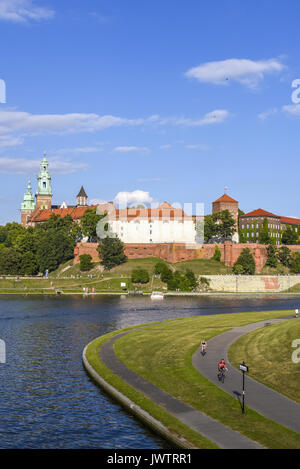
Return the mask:
<path id="1" fill-rule="evenodd" d="M 216 313 L 295 309 L 300 297 L 1 296 L 0 448 L 161 449 L 168 445 L 87 376 L 91 340 L 135 324 Z"/>

